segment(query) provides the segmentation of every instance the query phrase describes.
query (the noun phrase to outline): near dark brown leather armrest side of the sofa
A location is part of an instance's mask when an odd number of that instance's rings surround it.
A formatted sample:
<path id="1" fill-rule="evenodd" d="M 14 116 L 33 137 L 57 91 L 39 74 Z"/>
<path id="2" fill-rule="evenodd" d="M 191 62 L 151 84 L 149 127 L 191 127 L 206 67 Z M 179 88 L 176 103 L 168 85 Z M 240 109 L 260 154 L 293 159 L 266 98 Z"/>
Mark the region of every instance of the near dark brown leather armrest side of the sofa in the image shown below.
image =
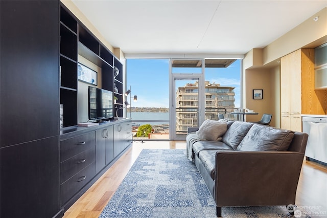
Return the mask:
<path id="1" fill-rule="evenodd" d="M 294 204 L 303 158 L 294 151 L 217 151 L 217 207 Z"/>

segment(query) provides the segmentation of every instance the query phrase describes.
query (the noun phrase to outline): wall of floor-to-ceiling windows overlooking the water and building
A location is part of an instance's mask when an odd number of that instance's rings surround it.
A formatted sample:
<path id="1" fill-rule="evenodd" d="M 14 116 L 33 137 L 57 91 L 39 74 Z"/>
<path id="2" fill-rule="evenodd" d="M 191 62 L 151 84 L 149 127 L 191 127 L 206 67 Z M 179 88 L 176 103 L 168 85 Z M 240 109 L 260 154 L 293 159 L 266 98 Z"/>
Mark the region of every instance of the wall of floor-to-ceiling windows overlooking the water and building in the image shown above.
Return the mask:
<path id="1" fill-rule="evenodd" d="M 213 67 L 214 65 L 209 64 L 212 61 L 208 60 L 204 68 L 204 96 L 198 97 L 197 82 L 186 84 L 186 81 L 179 81 L 179 86 L 183 89 L 180 89 L 181 95 L 176 99 L 180 105 L 176 107 L 185 107 L 183 112 L 178 113 L 181 131 L 187 131 L 188 125 L 198 125 L 198 113 L 192 107 L 199 107 L 199 100 L 202 98 L 205 101 L 205 119 L 211 119 L 213 114 L 221 112 L 227 115 L 228 111 L 240 107 L 241 60 L 230 61 L 227 68 Z M 156 134 L 160 135 L 160 139 L 169 138 L 170 63 L 172 73 L 201 74 L 202 68 L 193 67 L 191 62 L 192 60 L 170 62 L 170 59 L 127 59 L 126 84 L 127 89 L 131 88 L 131 94 L 126 100 L 131 103 L 131 111 L 127 109 L 126 115 L 132 118 L 134 139 L 158 139 Z M 201 66 L 199 60 L 194 63 Z M 186 67 L 181 67 L 182 65 Z M 137 102 L 133 102 L 134 95 L 137 95 Z M 145 124 L 151 125 L 151 132 L 137 137 L 139 126 Z"/>

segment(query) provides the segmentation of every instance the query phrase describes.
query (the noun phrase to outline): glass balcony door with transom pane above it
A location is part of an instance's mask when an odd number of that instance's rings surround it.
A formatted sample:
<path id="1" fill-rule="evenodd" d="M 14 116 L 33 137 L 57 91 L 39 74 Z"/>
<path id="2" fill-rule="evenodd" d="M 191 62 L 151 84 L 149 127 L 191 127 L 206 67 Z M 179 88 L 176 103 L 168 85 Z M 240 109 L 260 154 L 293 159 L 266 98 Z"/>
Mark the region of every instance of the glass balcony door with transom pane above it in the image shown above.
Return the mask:
<path id="1" fill-rule="evenodd" d="M 170 139 L 185 140 L 188 127 L 204 119 L 202 61 L 171 60 Z"/>

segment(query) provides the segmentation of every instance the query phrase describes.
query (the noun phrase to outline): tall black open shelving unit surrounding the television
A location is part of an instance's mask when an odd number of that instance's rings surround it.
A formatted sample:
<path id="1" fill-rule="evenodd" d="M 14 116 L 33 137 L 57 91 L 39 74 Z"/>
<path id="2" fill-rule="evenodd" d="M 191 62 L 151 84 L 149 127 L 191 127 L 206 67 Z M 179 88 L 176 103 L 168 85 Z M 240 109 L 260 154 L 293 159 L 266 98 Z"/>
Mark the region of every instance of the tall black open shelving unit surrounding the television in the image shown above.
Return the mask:
<path id="1" fill-rule="evenodd" d="M 71 12 L 62 5 L 60 10 L 60 104 L 63 104 L 63 127 L 71 127 L 79 119 L 77 99 L 82 92 L 78 88 L 78 55 L 101 68 L 99 88 L 118 97 L 113 107 L 122 107 L 124 103 L 123 64 Z M 115 68 L 119 69 L 116 77 Z M 118 114 L 122 117 L 123 110 Z"/>

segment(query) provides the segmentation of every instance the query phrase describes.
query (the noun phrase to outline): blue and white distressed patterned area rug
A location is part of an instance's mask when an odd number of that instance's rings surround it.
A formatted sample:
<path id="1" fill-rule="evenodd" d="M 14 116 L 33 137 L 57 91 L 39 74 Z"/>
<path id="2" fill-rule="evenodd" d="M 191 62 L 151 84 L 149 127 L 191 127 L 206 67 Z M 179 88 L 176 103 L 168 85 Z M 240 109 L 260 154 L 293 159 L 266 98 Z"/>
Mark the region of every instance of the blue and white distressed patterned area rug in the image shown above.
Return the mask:
<path id="1" fill-rule="evenodd" d="M 225 207 L 222 216 L 292 217 L 285 206 Z M 216 205 L 184 149 L 144 149 L 99 217 L 216 217 Z"/>

